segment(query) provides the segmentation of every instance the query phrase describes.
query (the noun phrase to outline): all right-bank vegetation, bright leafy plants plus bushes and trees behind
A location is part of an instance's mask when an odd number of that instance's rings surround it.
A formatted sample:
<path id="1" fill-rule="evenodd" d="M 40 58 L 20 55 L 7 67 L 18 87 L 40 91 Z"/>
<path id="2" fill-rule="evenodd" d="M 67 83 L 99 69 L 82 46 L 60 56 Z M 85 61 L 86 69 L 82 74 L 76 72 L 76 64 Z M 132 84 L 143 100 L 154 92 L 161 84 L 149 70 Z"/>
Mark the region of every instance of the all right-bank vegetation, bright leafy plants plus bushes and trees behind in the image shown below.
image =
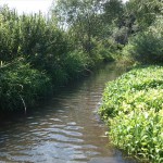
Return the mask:
<path id="1" fill-rule="evenodd" d="M 121 62 L 131 71 L 105 86 L 99 114 L 112 142 L 139 162 L 163 162 L 163 2 L 129 0 L 138 30 Z M 126 7 L 127 7 L 126 5 Z"/>

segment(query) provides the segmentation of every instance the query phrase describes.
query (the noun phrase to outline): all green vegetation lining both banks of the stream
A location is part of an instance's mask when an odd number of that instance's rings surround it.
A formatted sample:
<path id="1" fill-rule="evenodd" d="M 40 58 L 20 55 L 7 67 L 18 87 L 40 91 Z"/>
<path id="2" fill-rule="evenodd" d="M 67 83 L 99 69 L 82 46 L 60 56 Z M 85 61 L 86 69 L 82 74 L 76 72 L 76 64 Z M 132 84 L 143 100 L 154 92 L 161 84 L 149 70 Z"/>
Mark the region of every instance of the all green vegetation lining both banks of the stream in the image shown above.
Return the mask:
<path id="1" fill-rule="evenodd" d="M 162 0 L 58 0 L 49 13 L 0 7 L 0 111 L 26 110 L 103 61 L 163 63 Z M 113 142 L 147 162 L 163 161 L 162 74 L 109 83 L 100 109 Z"/>

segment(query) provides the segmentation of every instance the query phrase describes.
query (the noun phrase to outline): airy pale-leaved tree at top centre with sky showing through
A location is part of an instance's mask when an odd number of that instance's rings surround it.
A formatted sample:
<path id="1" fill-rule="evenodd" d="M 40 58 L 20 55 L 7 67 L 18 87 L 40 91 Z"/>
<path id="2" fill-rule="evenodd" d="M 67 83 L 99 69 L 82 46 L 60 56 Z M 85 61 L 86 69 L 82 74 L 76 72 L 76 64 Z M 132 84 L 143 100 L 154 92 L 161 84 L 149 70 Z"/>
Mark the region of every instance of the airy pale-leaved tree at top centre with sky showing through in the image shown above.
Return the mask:
<path id="1" fill-rule="evenodd" d="M 59 26 L 66 29 L 74 38 L 75 45 L 91 55 L 92 41 L 101 28 L 100 0 L 59 0 L 52 7 Z"/>

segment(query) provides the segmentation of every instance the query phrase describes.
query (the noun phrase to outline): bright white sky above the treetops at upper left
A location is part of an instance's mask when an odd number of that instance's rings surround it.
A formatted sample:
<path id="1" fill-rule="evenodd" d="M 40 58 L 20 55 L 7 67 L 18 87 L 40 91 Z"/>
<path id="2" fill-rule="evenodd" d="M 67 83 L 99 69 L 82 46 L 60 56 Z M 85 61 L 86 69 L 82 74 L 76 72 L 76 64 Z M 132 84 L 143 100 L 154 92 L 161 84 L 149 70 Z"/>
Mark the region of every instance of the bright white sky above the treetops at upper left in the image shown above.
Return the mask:
<path id="1" fill-rule="evenodd" d="M 0 5 L 8 4 L 9 8 L 14 8 L 21 14 L 37 13 L 41 11 L 43 14 L 48 13 L 53 0 L 0 0 Z M 127 0 L 123 0 L 124 2 Z"/>

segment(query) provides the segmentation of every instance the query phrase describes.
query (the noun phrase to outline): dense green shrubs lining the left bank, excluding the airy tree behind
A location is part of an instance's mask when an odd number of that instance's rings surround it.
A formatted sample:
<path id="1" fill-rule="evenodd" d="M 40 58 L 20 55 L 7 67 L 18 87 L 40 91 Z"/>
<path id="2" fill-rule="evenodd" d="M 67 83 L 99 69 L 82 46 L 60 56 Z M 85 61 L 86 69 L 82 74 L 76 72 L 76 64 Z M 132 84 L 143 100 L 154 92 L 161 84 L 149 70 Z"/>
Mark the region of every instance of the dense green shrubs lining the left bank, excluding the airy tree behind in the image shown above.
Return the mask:
<path id="1" fill-rule="evenodd" d="M 0 111 L 34 105 L 103 59 L 75 47 L 53 18 L 0 8 Z"/>

